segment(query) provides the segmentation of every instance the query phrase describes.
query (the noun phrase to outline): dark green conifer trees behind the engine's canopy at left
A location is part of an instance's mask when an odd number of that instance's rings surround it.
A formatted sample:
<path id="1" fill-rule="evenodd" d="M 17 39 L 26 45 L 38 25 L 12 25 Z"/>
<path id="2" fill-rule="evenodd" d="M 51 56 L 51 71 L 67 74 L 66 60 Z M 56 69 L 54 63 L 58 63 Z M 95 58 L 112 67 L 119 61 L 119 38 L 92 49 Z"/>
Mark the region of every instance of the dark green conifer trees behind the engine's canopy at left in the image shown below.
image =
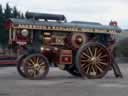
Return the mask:
<path id="1" fill-rule="evenodd" d="M 20 13 L 17 8 L 13 8 L 7 3 L 5 9 L 0 4 L 0 45 L 7 46 L 8 44 L 8 32 L 5 28 L 5 22 L 9 18 L 24 18 L 23 13 Z"/>

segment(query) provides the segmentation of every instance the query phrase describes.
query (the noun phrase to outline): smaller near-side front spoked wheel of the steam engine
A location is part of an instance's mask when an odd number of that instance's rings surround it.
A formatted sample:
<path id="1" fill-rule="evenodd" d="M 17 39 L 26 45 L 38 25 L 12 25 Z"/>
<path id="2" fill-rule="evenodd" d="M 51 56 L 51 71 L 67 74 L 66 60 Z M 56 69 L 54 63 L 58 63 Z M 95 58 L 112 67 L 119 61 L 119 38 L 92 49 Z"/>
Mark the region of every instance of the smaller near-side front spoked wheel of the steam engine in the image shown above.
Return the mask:
<path id="1" fill-rule="evenodd" d="M 24 73 L 28 79 L 42 79 L 46 77 L 49 70 L 48 60 L 40 55 L 33 54 L 23 61 Z"/>

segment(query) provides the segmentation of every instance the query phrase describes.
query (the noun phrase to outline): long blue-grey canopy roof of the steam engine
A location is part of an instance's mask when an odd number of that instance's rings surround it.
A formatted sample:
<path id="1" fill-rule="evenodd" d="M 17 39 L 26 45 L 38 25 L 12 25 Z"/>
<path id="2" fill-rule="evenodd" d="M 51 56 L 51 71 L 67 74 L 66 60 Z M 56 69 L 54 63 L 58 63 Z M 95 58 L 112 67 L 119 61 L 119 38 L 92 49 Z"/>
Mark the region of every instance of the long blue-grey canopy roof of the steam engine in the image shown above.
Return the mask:
<path id="1" fill-rule="evenodd" d="M 41 25 L 41 26 L 57 26 L 57 27 L 67 27 L 67 28 L 87 28 L 87 29 L 98 29 L 98 30 L 115 30 L 120 32 L 121 29 L 116 26 L 102 25 L 96 22 L 52 22 L 52 21 L 38 21 L 34 19 L 9 19 L 13 24 L 28 24 L 28 25 Z"/>

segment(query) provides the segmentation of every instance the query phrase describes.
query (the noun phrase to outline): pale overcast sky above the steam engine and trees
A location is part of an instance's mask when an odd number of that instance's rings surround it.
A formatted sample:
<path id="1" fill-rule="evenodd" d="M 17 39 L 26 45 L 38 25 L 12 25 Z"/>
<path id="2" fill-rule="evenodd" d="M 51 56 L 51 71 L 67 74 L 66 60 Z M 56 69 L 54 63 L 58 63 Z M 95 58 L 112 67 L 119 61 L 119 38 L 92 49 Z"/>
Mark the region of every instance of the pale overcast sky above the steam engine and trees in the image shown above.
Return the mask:
<path id="1" fill-rule="evenodd" d="M 0 0 L 18 10 L 64 14 L 68 21 L 93 21 L 108 24 L 116 20 L 128 29 L 128 0 Z"/>

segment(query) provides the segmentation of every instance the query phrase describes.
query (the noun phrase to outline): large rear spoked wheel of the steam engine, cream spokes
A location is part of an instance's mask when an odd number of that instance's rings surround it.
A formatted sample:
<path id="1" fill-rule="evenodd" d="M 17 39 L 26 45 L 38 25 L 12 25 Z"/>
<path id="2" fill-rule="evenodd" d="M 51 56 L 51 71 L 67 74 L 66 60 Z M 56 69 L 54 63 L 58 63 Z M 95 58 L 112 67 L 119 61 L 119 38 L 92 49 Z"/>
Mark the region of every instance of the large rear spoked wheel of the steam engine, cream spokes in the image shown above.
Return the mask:
<path id="1" fill-rule="evenodd" d="M 111 56 L 103 45 L 90 42 L 79 49 L 76 64 L 82 77 L 102 78 L 110 68 Z"/>

